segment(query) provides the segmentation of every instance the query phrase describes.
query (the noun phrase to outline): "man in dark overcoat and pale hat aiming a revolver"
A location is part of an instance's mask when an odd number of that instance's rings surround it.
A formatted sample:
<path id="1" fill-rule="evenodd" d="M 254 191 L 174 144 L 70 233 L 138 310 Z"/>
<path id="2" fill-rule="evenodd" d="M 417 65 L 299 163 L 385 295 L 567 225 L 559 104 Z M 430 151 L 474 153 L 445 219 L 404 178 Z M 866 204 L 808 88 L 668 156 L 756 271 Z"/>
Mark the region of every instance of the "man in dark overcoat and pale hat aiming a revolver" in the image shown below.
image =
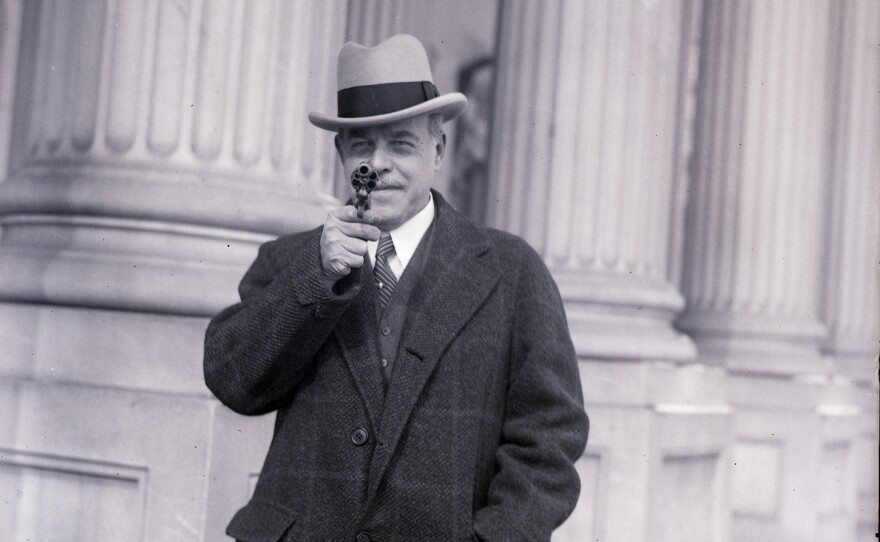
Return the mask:
<path id="1" fill-rule="evenodd" d="M 345 171 L 371 207 L 260 248 L 205 340 L 205 380 L 243 414 L 277 410 L 236 539 L 549 540 L 574 508 L 587 418 L 559 294 L 522 240 L 478 227 L 431 183 L 443 122 L 412 36 L 346 44 Z"/>

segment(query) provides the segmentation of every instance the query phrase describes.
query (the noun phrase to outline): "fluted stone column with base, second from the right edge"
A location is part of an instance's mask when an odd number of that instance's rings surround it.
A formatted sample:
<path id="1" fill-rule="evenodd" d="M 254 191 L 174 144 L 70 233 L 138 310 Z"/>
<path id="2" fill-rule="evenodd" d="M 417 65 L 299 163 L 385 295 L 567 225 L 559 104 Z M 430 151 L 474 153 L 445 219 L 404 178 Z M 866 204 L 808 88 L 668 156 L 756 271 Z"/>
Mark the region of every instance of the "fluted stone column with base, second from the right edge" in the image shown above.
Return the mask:
<path id="1" fill-rule="evenodd" d="M 728 367 L 827 370 L 828 13 L 827 2 L 707 9 L 680 325 Z"/>

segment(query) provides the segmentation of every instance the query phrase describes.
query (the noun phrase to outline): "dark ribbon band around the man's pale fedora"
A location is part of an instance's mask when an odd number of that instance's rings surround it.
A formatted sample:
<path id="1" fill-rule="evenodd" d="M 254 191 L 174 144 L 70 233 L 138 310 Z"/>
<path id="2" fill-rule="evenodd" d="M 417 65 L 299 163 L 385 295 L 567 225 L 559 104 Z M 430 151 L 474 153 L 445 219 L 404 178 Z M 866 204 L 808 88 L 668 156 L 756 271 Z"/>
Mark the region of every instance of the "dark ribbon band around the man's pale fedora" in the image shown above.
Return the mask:
<path id="1" fill-rule="evenodd" d="M 336 93 L 336 111 L 342 118 L 393 113 L 440 96 L 430 81 L 381 83 L 344 88 Z"/>

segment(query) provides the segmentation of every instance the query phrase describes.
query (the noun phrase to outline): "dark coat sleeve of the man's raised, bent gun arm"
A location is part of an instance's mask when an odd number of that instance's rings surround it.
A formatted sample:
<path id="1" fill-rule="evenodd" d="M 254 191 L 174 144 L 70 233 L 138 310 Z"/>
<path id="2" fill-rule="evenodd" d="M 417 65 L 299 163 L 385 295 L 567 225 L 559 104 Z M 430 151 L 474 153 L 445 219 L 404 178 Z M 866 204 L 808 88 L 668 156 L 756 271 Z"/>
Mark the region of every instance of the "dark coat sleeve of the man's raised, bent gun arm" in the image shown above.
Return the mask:
<path id="1" fill-rule="evenodd" d="M 239 285 L 241 301 L 208 325 L 205 383 L 232 410 L 277 409 L 357 294 L 359 272 L 331 291 L 320 257 L 320 230 L 262 245 Z"/>

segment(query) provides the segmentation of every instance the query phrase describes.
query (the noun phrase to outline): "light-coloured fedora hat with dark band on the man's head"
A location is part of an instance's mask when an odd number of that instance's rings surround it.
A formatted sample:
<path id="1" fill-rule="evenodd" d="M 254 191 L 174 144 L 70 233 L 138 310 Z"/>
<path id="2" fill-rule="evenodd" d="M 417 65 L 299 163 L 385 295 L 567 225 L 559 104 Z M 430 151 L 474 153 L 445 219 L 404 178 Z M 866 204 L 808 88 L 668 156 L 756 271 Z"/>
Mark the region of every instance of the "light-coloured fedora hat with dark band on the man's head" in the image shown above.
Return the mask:
<path id="1" fill-rule="evenodd" d="M 318 128 L 335 132 L 431 113 L 446 122 L 467 106 L 460 92 L 440 95 L 425 48 L 408 34 L 392 36 L 375 47 L 343 45 L 336 61 L 336 88 L 336 116 L 309 113 L 309 121 Z"/>

